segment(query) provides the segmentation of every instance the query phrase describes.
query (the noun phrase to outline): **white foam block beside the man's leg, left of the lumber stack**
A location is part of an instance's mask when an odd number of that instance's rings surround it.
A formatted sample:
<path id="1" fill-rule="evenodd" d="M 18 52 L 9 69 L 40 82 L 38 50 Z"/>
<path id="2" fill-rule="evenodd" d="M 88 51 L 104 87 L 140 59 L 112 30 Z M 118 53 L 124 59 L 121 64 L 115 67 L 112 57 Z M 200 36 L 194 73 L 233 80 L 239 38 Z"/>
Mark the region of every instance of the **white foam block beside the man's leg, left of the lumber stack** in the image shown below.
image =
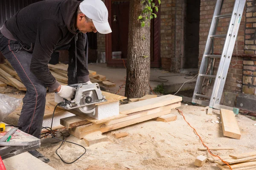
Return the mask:
<path id="1" fill-rule="evenodd" d="M 42 126 L 43 127 L 51 127 L 51 123 L 52 123 L 52 127 L 59 126 L 59 125 L 61 125 L 60 120 L 62 118 L 70 117 L 70 116 L 75 116 L 75 115 L 73 113 L 68 112 L 68 111 L 65 111 L 63 113 L 58 113 L 58 114 L 54 115 L 53 122 L 52 122 L 52 116 L 44 117 Z"/>

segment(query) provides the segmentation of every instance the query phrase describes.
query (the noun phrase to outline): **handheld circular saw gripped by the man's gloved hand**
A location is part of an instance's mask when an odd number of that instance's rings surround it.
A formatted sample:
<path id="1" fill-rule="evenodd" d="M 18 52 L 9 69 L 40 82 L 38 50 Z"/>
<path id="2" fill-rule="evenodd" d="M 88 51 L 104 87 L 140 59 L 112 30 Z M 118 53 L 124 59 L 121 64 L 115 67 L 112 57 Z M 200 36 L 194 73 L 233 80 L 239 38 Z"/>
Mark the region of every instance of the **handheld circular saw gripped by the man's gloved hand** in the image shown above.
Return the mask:
<path id="1" fill-rule="evenodd" d="M 80 83 L 69 85 L 70 87 L 76 88 L 75 97 L 71 101 L 67 101 L 62 98 L 64 101 L 60 106 L 64 109 L 75 109 L 81 113 L 93 113 L 95 114 L 96 103 L 107 102 L 105 96 L 102 96 L 102 92 L 99 88 L 98 83 L 87 84 Z M 55 95 L 56 101 L 56 95 Z M 59 101 L 58 101 L 59 102 Z"/>

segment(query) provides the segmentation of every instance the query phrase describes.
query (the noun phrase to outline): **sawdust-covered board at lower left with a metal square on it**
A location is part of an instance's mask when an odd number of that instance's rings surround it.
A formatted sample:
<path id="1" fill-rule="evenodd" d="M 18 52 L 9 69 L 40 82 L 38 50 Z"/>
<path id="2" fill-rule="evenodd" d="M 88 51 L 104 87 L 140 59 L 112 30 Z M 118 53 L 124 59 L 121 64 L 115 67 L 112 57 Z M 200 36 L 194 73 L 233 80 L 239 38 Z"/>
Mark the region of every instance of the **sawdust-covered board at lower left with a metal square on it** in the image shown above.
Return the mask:
<path id="1" fill-rule="evenodd" d="M 0 133 L 0 138 L 2 138 L 11 128 L 13 127 L 6 127 L 6 130 L 3 133 Z M 17 130 L 15 133 L 13 133 L 12 138 L 10 139 L 10 143 L 14 142 L 29 142 L 29 144 L 27 146 L 0 147 L 0 155 L 2 159 L 6 159 L 11 156 L 15 156 L 28 150 L 34 150 L 40 147 L 40 139 L 27 133 L 24 133 L 21 130 Z"/>

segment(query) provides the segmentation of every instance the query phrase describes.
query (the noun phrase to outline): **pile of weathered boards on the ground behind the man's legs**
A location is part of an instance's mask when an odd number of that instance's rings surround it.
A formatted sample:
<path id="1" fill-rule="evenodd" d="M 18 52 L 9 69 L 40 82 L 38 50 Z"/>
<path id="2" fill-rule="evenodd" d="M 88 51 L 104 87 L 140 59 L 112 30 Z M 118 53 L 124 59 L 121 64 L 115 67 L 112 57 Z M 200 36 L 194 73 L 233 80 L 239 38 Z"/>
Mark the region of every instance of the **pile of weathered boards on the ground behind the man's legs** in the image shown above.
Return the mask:
<path id="1" fill-rule="evenodd" d="M 67 77 L 67 68 L 68 65 L 59 63 L 56 65 L 48 64 L 48 67 L 55 77 L 55 79 L 61 85 L 67 85 L 68 77 Z M 91 82 L 98 82 L 99 84 L 104 85 L 105 87 L 115 87 L 116 84 L 109 82 L 105 76 L 96 74 L 95 71 L 90 71 L 89 77 Z M 17 72 L 12 68 L 12 65 L 5 59 L 5 63 L 0 64 L 0 87 L 5 87 L 10 85 L 12 87 L 17 88 L 20 91 L 26 91 L 25 85 L 21 82 L 20 77 Z"/>

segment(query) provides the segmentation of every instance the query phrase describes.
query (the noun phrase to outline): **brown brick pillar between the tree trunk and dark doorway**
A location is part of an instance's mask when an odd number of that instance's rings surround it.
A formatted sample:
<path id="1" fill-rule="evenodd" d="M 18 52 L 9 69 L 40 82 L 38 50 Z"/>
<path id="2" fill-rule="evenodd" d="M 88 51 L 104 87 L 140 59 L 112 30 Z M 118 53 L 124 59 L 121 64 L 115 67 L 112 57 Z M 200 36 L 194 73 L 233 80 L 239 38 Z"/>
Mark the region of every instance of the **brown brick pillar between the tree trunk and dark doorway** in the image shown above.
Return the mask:
<path id="1" fill-rule="evenodd" d="M 160 55 L 162 68 L 168 71 L 180 69 L 183 3 L 184 0 L 161 0 Z"/>

